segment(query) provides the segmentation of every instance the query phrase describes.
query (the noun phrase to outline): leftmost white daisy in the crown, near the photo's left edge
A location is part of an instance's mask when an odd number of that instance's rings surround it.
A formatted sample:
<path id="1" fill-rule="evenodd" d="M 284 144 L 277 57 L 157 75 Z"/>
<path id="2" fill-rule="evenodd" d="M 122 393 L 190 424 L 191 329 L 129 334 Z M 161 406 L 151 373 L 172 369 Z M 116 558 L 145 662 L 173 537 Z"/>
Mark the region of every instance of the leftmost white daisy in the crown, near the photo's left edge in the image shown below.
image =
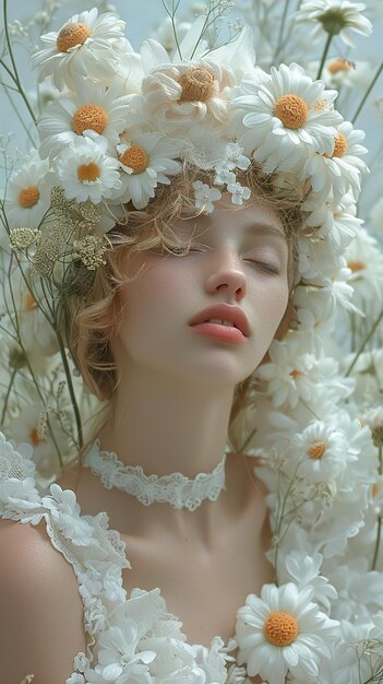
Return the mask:
<path id="1" fill-rule="evenodd" d="M 10 176 L 5 213 L 10 228 L 36 228 L 49 209 L 49 192 L 45 181 L 48 170 L 37 150 Z"/>

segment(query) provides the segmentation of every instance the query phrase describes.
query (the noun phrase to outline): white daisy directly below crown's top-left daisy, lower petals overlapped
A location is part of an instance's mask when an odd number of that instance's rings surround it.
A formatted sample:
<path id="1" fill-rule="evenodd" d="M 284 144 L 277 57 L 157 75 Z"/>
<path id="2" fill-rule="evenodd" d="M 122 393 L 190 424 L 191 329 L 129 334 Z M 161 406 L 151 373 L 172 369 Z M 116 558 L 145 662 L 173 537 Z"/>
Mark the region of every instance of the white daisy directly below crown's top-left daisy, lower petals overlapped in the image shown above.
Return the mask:
<path id="1" fill-rule="evenodd" d="M 55 157 L 63 148 L 93 130 L 107 139 L 110 146 L 119 141 L 127 126 L 129 96 L 120 96 L 119 85 L 96 86 L 76 81 L 75 93 L 52 103 L 40 116 L 37 129 L 43 158 Z"/>

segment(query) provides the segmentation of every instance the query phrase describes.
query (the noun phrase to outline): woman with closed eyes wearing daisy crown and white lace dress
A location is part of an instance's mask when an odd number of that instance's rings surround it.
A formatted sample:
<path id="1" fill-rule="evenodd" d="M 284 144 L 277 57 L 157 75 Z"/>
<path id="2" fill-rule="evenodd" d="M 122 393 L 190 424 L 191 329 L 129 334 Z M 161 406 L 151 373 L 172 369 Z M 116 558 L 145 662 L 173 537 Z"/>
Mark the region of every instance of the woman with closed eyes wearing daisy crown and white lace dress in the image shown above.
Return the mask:
<path id="1" fill-rule="evenodd" d="M 103 30 L 109 52 L 96 40 Z M 50 496 L 41 498 L 27 477 L 27 455 L 2 443 L 2 515 L 33 524 L 1 528 L 1 675 L 10 684 L 27 671 L 39 684 L 213 684 L 256 682 L 260 674 L 283 684 L 288 672 L 295 682 L 315 682 L 324 672 L 331 681 L 325 663 L 338 639 L 339 623 L 328 617 L 336 592 L 320 577 L 314 551 L 313 570 L 304 524 L 286 509 L 296 497 L 311 526 L 322 481 L 316 471 L 316 481 L 298 480 L 302 463 L 292 457 L 285 470 L 260 471 L 268 486 L 295 470 L 285 490 L 271 486 L 272 532 L 263 485 L 244 456 L 251 429 L 243 421 L 262 394 L 254 369 L 267 361 L 273 340 L 294 327 L 294 286 L 304 279 L 307 287 L 324 287 L 333 264 L 342 266 L 333 235 L 310 223 L 324 198 L 335 212 L 354 180 L 346 176 L 337 186 L 328 175 L 333 186 L 314 182 L 315 165 L 326 168 L 342 144 L 347 150 L 334 95 L 286 67 L 285 92 L 273 105 L 278 132 L 268 130 L 270 117 L 258 120 L 254 93 L 272 89 L 273 76 L 253 67 L 246 32 L 226 51 L 204 58 L 194 49 L 193 59 L 176 66 L 165 62 L 160 46 L 146 45 L 140 93 L 128 95 L 125 84 L 121 95 L 121 64 L 129 63 L 131 87 L 139 76 L 120 31 L 112 14 L 83 13 L 56 35 L 51 54 L 37 56 L 44 73 L 56 63 L 56 83 L 65 84 L 71 102 L 62 135 L 49 123 L 60 104 L 39 123 L 41 154 L 50 154 L 52 185 L 60 188 L 51 208 L 67 229 L 61 326 L 85 385 L 109 403 L 97 441 Z M 188 36 L 181 50 L 191 42 Z M 104 89 L 117 103 L 108 111 L 96 90 L 85 104 L 73 95 L 81 66 L 97 80 L 100 51 L 101 78 L 116 76 Z M 101 207 L 96 217 L 81 214 L 86 200 L 94 213 Z M 111 231 L 105 207 L 118 216 Z M 59 237 L 41 224 L 37 269 Z M 270 364 L 264 367 L 265 379 Z M 291 372 L 291 381 L 300 375 Z M 261 445 L 262 416 L 261 406 Z M 228 428 L 232 448 L 225 460 Z M 321 468 L 321 445 L 310 443 L 315 453 L 302 465 L 309 474 L 313 461 Z M 310 486 L 297 503 L 302 481 Z M 306 583 L 290 581 L 287 561 L 280 582 L 277 534 L 289 540 L 298 528 L 295 561 L 304 551 Z"/>

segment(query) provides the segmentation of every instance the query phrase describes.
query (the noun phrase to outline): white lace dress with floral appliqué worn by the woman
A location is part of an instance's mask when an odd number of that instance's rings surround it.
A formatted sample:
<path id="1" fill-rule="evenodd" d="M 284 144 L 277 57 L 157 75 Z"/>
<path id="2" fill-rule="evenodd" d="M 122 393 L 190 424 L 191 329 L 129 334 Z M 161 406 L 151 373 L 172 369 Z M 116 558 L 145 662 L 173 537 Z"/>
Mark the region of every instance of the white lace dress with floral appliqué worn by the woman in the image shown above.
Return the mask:
<path id="1" fill-rule="evenodd" d="M 26 445 L 15 451 L 0 433 L 0 515 L 22 523 L 45 520 L 52 545 L 77 578 L 87 652 L 74 656 L 65 684 L 249 682 L 232 657 L 235 639 L 226 646 L 219 637 L 210 648 L 191 646 L 181 623 L 167 613 L 159 589 L 127 594 L 125 544 L 108 528 L 107 514 L 81 515 L 74 492 L 58 484 L 39 493 L 31 452 Z"/>

